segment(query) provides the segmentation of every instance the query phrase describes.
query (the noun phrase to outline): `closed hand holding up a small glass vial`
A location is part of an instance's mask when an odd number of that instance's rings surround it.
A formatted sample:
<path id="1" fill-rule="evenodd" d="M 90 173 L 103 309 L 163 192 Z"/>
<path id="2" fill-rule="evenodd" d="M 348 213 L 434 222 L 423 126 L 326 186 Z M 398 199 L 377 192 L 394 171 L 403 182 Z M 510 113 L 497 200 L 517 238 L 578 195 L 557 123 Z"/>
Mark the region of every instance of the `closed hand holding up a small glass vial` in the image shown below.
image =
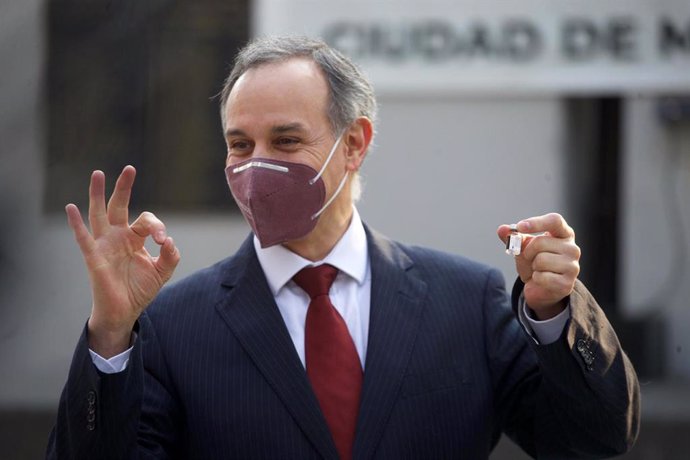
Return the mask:
<path id="1" fill-rule="evenodd" d="M 580 273 L 575 232 L 556 213 L 521 220 L 517 230 L 522 234 L 522 251 L 515 266 L 525 283 L 527 306 L 539 320 L 553 318 L 565 308 Z M 505 243 L 510 227 L 501 225 L 497 233 Z"/>

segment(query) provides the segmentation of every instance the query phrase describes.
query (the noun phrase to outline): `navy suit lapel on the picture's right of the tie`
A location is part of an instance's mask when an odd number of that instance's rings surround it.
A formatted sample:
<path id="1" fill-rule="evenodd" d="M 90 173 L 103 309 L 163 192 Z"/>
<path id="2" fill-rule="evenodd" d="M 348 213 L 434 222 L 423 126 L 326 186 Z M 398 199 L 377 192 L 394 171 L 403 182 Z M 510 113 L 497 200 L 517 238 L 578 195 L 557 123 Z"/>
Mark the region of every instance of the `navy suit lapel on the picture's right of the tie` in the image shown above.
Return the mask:
<path id="1" fill-rule="evenodd" d="M 366 228 L 366 227 L 365 227 Z M 354 457 L 371 458 L 393 409 L 417 337 L 426 283 L 412 261 L 368 228 L 371 312 Z"/>

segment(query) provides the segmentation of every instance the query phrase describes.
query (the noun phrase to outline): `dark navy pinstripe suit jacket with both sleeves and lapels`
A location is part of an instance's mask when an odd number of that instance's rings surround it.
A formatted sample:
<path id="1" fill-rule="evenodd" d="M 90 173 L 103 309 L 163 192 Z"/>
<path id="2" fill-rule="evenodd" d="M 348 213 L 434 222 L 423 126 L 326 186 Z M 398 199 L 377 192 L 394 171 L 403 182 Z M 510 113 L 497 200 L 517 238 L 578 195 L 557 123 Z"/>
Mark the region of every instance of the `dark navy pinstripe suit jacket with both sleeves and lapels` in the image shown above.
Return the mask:
<path id="1" fill-rule="evenodd" d="M 496 270 L 367 236 L 371 317 L 355 458 L 484 459 L 501 432 L 539 458 L 630 446 L 637 380 L 582 284 L 562 337 L 540 346 Z M 49 458 L 337 458 L 251 237 L 165 288 L 137 332 L 127 369 L 112 375 L 93 366 L 84 332 Z"/>

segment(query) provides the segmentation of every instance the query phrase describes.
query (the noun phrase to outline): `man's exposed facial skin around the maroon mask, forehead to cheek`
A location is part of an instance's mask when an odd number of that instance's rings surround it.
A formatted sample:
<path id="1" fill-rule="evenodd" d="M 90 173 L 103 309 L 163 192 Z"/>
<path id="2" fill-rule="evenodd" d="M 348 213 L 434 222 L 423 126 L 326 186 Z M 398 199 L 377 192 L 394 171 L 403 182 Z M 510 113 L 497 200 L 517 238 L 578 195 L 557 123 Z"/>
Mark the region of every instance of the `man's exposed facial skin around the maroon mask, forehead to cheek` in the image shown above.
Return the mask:
<path id="1" fill-rule="evenodd" d="M 247 71 L 225 108 L 226 166 L 260 157 L 319 171 L 336 140 L 327 116 L 328 99 L 326 79 L 311 60 L 290 59 Z M 336 152 L 323 175 L 326 196 L 344 174 L 344 157 Z"/>

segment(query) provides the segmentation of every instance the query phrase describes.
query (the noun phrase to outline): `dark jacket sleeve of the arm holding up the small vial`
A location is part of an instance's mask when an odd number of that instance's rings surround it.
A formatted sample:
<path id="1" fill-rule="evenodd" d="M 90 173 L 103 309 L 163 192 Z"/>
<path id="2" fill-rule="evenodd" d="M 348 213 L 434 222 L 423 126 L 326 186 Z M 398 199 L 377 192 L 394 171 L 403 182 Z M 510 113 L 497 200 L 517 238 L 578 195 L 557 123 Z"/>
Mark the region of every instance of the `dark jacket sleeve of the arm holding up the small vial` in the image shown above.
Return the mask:
<path id="1" fill-rule="evenodd" d="M 523 285 L 513 288 L 512 324 Z M 640 394 L 635 371 L 604 312 L 577 281 L 571 318 L 560 338 L 539 345 L 492 315 L 493 374 L 504 432 L 536 458 L 590 458 L 624 453 L 639 431 Z M 510 313 L 510 311 L 509 311 Z M 521 329 L 520 326 L 517 326 Z M 536 356 L 536 366 L 530 363 Z M 531 357 L 531 358 L 529 358 Z"/>

